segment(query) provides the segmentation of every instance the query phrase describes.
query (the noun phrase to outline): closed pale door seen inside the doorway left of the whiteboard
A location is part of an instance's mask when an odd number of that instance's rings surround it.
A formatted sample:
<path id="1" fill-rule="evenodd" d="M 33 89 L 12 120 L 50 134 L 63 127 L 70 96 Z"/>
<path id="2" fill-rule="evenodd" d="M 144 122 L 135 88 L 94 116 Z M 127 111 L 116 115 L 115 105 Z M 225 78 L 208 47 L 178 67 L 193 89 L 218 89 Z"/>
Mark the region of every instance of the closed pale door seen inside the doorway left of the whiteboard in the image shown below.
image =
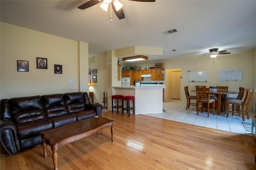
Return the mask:
<path id="1" fill-rule="evenodd" d="M 181 71 L 172 71 L 172 98 L 180 99 Z"/>

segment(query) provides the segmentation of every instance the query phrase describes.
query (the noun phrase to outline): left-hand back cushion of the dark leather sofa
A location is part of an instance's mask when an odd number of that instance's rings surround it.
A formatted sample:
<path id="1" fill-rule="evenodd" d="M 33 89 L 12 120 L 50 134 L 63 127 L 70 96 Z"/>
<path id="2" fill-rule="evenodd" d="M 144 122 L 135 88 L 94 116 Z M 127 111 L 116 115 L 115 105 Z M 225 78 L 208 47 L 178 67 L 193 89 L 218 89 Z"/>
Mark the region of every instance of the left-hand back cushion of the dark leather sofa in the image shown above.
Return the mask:
<path id="1" fill-rule="evenodd" d="M 41 96 L 12 98 L 10 108 L 15 123 L 27 123 L 46 118 Z"/>

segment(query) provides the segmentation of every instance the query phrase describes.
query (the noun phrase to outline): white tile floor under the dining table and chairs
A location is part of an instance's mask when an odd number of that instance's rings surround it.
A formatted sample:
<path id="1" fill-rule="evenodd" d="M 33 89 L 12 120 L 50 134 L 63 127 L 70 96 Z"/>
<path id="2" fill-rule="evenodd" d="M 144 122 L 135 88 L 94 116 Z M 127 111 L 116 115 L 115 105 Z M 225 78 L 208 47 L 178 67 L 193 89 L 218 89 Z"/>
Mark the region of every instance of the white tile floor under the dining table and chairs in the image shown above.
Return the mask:
<path id="1" fill-rule="evenodd" d="M 209 117 L 207 117 L 207 112 L 199 112 L 199 115 L 196 115 L 196 106 L 190 106 L 190 108 L 186 110 L 186 104 L 175 99 L 164 102 L 163 108 L 166 110 L 164 113 L 145 115 L 252 136 L 251 132 L 244 129 L 241 123 L 242 117 L 236 113 L 234 116 L 232 116 L 231 113 L 228 117 L 226 117 L 224 112 L 217 115 L 217 111 L 215 111 L 214 115 L 212 115 L 210 111 Z M 245 118 L 245 121 L 251 123 L 254 111 L 249 111 L 249 113 L 250 119 Z"/>

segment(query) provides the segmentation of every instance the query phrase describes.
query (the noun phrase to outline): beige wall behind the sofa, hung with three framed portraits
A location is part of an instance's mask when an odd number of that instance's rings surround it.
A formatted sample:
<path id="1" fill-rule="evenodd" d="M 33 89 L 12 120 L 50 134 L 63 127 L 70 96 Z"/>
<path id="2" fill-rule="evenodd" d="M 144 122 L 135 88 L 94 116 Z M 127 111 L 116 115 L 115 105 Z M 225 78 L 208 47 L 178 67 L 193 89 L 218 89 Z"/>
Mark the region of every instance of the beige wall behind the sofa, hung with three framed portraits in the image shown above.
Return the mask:
<path id="1" fill-rule="evenodd" d="M 80 60 L 88 70 L 88 43 L 1 22 L 0 98 L 88 91 L 80 76 Z M 79 56 L 81 54 L 81 56 Z M 48 69 L 36 68 L 36 57 L 48 59 Z M 29 62 L 29 72 L 17 71 L 17 60 Z M 62 65 L 62 74 L 54 74 L 54 64 Z M 87 65 L 87 66 L 86 66 Z M 80 66 L 81 67 L 81 66 Z M 86 77 L 87 76 L 87 77 Z M 74 80 L 70 84 L 69 80 Z M 82 83 L 82 84 L 81 84 Z"/>

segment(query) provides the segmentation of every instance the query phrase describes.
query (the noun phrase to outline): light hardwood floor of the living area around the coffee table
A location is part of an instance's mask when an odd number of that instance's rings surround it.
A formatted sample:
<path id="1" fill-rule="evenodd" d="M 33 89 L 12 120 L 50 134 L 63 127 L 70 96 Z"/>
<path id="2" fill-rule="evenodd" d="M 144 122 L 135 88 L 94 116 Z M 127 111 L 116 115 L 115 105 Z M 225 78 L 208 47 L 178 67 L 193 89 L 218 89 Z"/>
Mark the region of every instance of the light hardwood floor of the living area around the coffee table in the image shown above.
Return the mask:
<path id="1" fill-rule="evenodd" d="M 59 170 L 255 170 L 254 137 L 146 115 L 103 113 L 114 119 L 99 135 L 58 149 Z M 8 156 L 1 149 L 1 170 L 51 170 L 50 147 Z"/>

